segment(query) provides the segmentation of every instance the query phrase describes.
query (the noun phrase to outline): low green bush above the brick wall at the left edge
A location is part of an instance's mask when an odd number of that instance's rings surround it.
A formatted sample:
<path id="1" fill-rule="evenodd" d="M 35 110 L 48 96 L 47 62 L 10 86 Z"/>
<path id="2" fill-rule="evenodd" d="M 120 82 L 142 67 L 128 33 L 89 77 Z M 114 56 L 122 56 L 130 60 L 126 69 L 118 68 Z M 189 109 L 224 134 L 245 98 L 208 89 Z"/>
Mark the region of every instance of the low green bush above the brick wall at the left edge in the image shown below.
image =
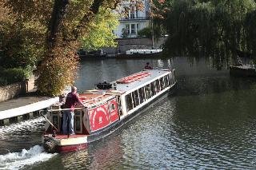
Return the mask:
<path id="1" fill-rule="evenodd" d="M 30 77 L 29 69 L 12 68 L 0 69 L 0 85 L 9 85 L 18 81 L 25 81 Z"/>

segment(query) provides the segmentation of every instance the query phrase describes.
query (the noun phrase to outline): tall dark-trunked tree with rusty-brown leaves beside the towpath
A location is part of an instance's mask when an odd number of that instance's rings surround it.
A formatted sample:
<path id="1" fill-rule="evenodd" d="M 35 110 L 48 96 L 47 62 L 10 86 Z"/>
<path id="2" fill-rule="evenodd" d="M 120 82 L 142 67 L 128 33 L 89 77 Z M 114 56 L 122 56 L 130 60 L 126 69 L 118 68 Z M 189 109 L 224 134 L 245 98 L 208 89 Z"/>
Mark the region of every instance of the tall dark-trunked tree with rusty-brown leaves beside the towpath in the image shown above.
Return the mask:
<path id="1" fill-rule="evenodd" d="M 72 85 L 78 69 L 79 40 L 89 38 L 100 9 L 113 10 L 120 0 L 1 0 L 16 20 L 31 28 L 41 28 L 43 35 L 30 36 L 39 40 L 45 50 L 38 66 L 38 91 L 58 95 Z M 134 2 L 141 6 L 141 2 Z M 33 29 L 32 29 L 33 30 Z M 36 31 L 34 31 L 36 33 Z M 33 32 L 33 33 L 34 33 Z M 38 43 L 41 41 L 38 41 Z M 36 43 L 35 43 L 36 44 Z"/>

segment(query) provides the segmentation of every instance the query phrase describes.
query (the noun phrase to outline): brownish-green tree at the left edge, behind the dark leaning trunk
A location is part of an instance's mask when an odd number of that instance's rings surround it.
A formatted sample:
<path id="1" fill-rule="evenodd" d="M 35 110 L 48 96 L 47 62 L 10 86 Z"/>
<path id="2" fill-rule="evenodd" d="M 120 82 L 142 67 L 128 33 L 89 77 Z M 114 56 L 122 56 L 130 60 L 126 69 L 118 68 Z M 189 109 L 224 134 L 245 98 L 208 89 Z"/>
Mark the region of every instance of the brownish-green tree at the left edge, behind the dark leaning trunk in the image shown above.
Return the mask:
<path id="1" fill-rule="evenodd" d="M 32 68 L 42 57 L 44 29 L 28 22 L 22 22 L 10 13 L 10 9 L 0 2 L 0 34 L 2 37 L 1 63 L 5 68 Z"/>

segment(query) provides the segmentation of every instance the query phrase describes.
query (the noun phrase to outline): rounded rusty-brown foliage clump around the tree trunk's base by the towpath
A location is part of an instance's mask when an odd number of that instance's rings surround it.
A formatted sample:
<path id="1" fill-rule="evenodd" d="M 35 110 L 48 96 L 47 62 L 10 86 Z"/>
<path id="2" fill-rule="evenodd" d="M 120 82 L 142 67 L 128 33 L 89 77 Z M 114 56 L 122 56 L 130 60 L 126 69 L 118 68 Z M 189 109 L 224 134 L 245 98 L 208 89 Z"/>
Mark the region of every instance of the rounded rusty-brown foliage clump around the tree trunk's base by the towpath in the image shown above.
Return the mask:
<path id="1" fill-rule="evenodd" d="M 78 56 L 72 49 L 55 47 L 51 57 L 38 66 L 36 85 L 40 93 L 58 95 L 66 85 L 73 85 L 78 69 Z"/>

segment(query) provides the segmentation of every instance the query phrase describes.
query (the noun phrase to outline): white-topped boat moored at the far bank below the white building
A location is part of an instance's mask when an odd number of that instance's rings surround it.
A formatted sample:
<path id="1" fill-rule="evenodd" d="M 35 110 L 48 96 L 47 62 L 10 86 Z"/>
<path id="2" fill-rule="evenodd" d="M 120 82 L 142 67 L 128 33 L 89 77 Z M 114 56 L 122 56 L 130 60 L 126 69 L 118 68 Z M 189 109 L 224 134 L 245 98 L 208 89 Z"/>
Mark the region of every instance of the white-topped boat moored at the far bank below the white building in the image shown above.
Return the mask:
<path id="1" fill-rule="evenodd" d="M 162 49 L 129 49 L 126 53 L 118 53 L 117 58 L 136 58 L 136 57 L 161 57 Z"/>

